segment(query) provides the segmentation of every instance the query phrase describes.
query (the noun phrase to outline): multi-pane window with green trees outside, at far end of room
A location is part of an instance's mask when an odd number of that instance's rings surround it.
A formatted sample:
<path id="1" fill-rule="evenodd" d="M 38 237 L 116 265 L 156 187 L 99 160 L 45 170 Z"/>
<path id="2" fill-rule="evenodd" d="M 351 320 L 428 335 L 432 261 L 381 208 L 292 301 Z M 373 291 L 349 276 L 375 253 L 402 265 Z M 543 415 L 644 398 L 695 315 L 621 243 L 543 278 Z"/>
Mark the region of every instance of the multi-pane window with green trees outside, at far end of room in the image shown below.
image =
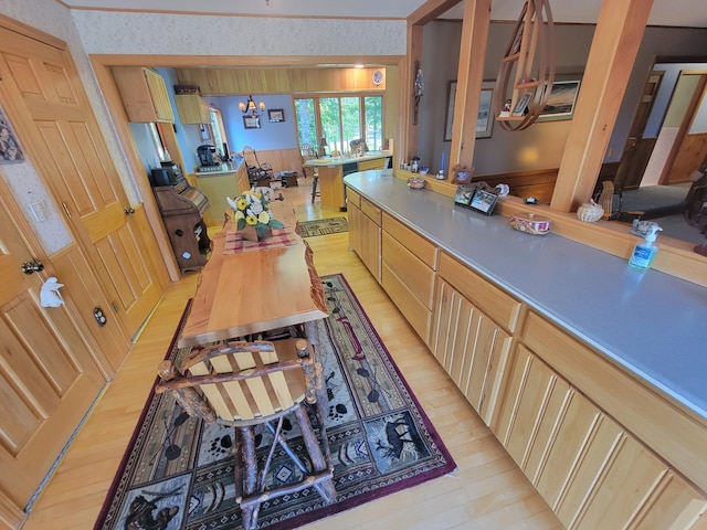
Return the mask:
<path id="1" fill-rule="evenodd" d="M 347 152 L 351 140 L 363 139 L 370 150 L 383 148 L 383 97 L 342 95 L 295 98 L 295 119 L 299 145 L 319 146 L 326 138 L 326 152 Z"/>

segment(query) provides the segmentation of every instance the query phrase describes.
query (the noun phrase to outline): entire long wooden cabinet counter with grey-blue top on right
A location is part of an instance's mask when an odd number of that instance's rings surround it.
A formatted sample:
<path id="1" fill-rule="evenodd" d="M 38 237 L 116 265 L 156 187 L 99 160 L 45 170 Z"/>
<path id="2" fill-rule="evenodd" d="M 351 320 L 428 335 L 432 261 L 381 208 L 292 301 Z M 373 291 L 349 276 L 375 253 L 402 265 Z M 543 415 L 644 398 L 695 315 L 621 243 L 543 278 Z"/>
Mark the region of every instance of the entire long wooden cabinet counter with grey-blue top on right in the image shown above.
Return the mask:
<path id="1" fill-rule="evenodd" d="M 380 171 L 345 183 L 351 247 L 568 528 L 700 528 L 707 288 Z"/>

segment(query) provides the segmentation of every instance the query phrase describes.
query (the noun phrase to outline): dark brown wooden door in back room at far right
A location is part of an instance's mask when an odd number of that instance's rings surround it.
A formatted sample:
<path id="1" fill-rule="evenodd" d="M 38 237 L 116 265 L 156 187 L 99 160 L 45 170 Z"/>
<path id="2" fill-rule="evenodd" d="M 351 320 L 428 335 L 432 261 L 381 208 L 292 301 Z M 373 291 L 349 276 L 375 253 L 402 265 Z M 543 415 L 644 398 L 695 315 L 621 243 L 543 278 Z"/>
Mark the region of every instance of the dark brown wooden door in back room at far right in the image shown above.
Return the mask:
<path id="1" fill-rule="evenodd" d="M 655 96 L 661 87 L 664 72 L 652 72 L 648 81 L 643 87 L 643 94 L 639 102 L 639 108 L 633 117 L 629 138 L 621 155 L 621 162 L 616 170 L 614 183 L 616 188 L 631 190 L 639 188 L 643 173 L 648 165 L 651 153 L 655 147 L 657 138 L 644 138 L 643 132 L 651 116 Z"/>

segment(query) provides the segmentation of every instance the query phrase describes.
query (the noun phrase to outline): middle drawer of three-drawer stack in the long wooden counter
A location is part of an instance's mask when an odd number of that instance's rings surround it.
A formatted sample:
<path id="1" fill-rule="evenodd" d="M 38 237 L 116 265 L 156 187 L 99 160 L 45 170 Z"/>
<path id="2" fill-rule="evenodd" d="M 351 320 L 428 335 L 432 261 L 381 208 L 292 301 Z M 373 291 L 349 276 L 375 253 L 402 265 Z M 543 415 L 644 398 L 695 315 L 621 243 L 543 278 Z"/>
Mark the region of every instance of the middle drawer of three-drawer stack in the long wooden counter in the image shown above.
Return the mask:
<path id="1" fill-rule="evenodd" d="M 434 298 L 434 271 L 383 231 L 381 256 L 386 265 L 428 308 Z"/>

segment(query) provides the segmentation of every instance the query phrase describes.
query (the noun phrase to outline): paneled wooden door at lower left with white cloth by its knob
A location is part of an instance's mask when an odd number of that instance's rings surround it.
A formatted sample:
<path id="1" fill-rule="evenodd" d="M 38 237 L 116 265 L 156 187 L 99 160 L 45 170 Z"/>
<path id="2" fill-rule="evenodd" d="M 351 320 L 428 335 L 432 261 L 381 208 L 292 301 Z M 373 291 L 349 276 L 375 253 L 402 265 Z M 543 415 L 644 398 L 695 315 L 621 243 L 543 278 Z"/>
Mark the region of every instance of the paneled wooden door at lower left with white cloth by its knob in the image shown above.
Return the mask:
<path id="1" fill-rule="evenodd" d="M 10 212 L 0 193 L 0 506 L 17 526 L 105 380 L 66 306 L 40 306 L 48 274 L 21 271 L 34 253 Z"/>

